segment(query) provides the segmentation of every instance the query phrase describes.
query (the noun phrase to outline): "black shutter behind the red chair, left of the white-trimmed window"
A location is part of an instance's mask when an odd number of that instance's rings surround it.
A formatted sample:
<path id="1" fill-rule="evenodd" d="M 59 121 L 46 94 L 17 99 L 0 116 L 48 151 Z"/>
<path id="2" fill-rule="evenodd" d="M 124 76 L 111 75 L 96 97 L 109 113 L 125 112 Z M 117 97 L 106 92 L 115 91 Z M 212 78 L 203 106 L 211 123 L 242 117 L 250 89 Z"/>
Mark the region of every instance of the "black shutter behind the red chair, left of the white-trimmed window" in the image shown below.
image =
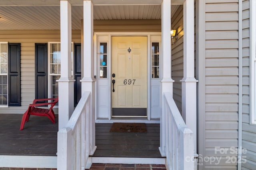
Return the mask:
<path id="1" fill-rule="evenodd" d="M 47 43 L 35 43 L 36 99 L 48 98 L 47 76 Z"/>

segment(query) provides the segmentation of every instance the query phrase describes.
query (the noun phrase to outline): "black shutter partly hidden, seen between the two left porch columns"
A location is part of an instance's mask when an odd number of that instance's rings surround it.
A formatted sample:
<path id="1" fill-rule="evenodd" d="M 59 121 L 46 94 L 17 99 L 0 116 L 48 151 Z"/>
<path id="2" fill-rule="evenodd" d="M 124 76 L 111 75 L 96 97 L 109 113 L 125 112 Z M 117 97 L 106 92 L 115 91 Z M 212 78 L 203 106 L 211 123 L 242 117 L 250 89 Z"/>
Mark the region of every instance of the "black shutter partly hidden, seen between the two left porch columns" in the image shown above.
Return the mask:
<path id="1" fill-rule="evenodd" d="M 81 98 L 81 44 L 74 44 L 74 107 Z"/>

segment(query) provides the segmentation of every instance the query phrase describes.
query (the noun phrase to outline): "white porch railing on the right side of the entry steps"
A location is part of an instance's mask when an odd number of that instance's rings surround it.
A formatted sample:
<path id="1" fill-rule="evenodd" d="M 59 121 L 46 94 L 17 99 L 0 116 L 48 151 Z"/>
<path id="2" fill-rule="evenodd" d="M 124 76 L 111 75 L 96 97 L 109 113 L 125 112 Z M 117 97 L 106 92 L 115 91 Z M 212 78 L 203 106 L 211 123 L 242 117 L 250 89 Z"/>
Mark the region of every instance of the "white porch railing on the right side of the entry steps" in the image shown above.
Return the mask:
<path id="1" fill-rule="evenodd" d="M 193 132 L 184 123 L 170 92 L 164 92 L 163 102 L 166 165 L 169 170 L 194 170 Z"/>

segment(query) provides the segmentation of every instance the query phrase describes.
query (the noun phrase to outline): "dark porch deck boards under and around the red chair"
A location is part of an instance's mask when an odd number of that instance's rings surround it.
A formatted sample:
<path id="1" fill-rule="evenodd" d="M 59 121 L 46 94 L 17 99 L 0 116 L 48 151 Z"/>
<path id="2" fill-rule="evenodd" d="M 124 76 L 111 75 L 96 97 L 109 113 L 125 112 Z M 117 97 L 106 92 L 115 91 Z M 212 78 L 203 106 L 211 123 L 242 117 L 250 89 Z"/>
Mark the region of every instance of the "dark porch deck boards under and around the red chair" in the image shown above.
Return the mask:
<path id="1" fill-rule="evenodd" d="M 0 114 L 0 155 L 56 156 L 58 123 L 31 115 L 20 131 L 21 119 L 22 114 Z"/>

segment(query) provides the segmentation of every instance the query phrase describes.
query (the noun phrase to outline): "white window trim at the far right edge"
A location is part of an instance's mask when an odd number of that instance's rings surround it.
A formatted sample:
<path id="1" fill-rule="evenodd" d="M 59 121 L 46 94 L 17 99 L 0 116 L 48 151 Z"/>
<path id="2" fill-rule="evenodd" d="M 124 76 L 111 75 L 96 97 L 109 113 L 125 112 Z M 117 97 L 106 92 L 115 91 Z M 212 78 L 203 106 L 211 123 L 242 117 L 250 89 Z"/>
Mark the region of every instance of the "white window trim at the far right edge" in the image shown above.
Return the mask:
<path id="1" fill-rule="evenodd" d="M 250 124 L 256 125 L 256 1 L 250 1 Z"/>

